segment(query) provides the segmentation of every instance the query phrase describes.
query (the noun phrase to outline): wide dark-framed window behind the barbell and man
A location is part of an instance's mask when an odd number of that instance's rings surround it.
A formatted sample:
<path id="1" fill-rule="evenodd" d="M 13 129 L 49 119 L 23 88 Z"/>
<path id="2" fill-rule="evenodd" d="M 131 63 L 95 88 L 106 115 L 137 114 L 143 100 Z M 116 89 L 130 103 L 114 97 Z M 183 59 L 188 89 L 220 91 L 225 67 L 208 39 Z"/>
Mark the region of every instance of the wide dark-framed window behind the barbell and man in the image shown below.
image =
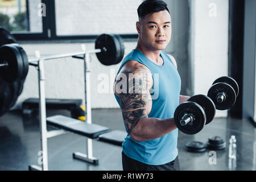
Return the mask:
<path id="1" fill-rule="evenodd" d="M 142 0 L 0 0 L 0 25 L 17 40 L 137 38 Z"/>

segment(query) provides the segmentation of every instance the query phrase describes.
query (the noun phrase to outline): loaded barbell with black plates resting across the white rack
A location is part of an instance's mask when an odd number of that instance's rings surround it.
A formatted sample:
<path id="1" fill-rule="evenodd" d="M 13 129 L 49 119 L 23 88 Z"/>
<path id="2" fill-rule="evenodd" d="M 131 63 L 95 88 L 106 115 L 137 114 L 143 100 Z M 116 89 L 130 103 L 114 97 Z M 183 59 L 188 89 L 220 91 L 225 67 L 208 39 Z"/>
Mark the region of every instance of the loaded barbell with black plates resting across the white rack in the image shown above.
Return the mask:
<path id="1" fill-rule="evenodd" d="M 102 34 L 97 37 L 95 48 L 89 53 L 96 53 L 98 60 L 104 65 L 118 64 L 124 55 L 124 45 L 119 35 Z M 42 60 L 58 59 L 61 57 L 84 55 L 85 52 L 72 52 L 60 55 L 42 57 Z M 15 82 L 26 78 L 28 65 L 39 61 L 28 60 L 24 49 L 17 43 L 5 44 L 0 47 L 0 77 L 6 82 Z"/>

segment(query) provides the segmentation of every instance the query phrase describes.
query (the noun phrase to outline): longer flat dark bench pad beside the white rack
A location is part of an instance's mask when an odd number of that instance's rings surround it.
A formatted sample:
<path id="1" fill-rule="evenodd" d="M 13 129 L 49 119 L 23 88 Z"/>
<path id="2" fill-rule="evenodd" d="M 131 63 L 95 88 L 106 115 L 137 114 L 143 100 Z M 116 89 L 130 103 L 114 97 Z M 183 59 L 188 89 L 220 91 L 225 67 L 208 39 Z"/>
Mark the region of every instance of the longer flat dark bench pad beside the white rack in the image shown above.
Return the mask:
<path id="1" fill-rule="evenodd" d="M 46 121 L 49 125 L 92 139 L 97 138 L 100 134 L 110 131 L 108 127 L 96 124 L 88 124 L 86 122 L 66 117 L 64 115 L 54 115 L 52 117 L 48 117 Z"/>

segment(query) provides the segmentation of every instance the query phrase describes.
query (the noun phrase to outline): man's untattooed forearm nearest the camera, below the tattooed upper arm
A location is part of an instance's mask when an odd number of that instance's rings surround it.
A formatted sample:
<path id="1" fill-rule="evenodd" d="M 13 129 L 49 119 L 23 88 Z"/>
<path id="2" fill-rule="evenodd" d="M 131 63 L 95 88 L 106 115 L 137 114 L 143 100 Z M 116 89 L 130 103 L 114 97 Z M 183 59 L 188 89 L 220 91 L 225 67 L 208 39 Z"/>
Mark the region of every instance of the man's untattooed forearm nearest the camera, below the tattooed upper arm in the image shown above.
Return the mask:
<path id="1" fill-rule="evenodd" d="M 130 136 L 137 142 L 143 142 L 163 137 L 176 128 L 174 118 L 142 118 L 131 132 Z"/>

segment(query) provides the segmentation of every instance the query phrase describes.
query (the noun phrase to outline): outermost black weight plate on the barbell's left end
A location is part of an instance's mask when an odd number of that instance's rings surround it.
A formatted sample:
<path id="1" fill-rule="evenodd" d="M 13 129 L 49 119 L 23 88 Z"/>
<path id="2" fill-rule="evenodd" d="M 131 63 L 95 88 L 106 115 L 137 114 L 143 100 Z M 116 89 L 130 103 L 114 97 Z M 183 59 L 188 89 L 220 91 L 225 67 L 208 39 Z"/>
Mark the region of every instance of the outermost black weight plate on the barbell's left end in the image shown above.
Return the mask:
<path id="1" fill-rule="evenodd" d="M 22 55 L 12 44 L 0 47 L 0 63 L 8 63 L 7 67 L 0 67 L 0 77 L 6 82 L 15 82 L 23 77 Z"/>

